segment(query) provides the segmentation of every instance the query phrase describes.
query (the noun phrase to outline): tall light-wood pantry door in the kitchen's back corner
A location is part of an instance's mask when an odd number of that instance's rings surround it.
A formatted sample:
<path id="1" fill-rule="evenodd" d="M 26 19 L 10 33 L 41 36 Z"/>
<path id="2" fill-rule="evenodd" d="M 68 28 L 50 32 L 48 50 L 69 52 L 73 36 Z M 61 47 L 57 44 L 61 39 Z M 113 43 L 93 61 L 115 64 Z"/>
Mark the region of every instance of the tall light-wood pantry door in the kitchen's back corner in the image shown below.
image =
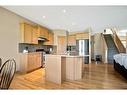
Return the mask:
<path id="1" fill-rule="evenodd" d="M 66 53 L 66 36 L 58 36 L 58 54 L 65 54 Z"/>

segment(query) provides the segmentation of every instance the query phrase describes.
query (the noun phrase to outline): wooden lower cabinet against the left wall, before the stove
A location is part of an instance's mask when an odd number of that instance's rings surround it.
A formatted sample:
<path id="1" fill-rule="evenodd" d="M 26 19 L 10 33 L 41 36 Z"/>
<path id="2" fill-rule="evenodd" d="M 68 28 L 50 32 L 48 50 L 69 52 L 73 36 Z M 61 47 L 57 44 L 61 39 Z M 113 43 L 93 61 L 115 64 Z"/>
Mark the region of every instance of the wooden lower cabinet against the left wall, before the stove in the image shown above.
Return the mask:
<path id="1" fill-rule="evenodd" d="M 41 67 L 41 53 L 21 53 L 20 54 L 20 72 L 30 72 Z"/>

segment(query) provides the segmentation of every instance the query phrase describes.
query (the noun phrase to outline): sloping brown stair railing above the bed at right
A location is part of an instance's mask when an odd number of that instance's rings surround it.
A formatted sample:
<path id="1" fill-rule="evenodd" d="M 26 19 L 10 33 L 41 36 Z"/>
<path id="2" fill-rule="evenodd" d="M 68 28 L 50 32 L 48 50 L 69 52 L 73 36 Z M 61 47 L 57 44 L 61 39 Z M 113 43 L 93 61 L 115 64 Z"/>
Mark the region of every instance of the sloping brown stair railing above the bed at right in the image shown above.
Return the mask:
<path id="1" fill-rule="evenodd" d="M 111 31 L 113 33 L 113 40 L 115 42 L 115 45 L 116 45 L 119 53 L 125 53 L 126 52 L 126 49 L 125 49 L 124 45 L 122 44 L 120 38 L 118 37 L 118 35 L 116 33 L 116 30 L 111 29 Z"/>

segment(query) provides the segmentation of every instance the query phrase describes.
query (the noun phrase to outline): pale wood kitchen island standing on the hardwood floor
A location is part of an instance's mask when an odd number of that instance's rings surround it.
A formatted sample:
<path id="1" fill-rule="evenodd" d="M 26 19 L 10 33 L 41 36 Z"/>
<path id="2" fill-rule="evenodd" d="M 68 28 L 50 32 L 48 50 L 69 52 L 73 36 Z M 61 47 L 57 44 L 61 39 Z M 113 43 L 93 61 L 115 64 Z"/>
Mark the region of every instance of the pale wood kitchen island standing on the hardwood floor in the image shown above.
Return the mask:
<path id="1" fill-rule="evenodd" d="M 82 56 L 45 55 L 46 80 L 61 84 L 82 78 Z"/>

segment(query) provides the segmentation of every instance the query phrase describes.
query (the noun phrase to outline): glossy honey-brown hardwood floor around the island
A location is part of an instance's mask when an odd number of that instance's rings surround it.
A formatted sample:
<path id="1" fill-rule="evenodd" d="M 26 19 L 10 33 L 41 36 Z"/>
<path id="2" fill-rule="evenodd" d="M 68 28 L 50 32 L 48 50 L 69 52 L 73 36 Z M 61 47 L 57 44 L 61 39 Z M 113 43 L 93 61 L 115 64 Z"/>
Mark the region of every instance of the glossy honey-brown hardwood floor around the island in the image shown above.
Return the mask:
<path id="1" fill-rule="evenodd" d="M 127 80 L 112 64 L 84 64 L 83 78 L 61 85 L 45 81 L 45 70 L 16 74 L 10 89 L 127 89 Z"/>

